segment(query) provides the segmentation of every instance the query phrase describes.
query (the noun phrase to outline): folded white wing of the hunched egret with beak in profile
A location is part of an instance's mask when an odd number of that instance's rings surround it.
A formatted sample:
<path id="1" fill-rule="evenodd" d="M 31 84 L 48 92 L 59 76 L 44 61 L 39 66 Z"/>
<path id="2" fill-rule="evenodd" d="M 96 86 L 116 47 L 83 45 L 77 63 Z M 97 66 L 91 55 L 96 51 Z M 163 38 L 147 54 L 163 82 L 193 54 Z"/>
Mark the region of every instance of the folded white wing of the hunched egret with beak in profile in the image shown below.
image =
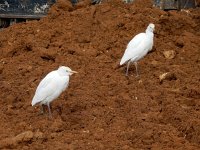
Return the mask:
<path id="1" fill-rule="evenodd" d="M 32 106 L 49 97 L 55 90 L 56 72 L 50 72 L 38 85 Z"/>

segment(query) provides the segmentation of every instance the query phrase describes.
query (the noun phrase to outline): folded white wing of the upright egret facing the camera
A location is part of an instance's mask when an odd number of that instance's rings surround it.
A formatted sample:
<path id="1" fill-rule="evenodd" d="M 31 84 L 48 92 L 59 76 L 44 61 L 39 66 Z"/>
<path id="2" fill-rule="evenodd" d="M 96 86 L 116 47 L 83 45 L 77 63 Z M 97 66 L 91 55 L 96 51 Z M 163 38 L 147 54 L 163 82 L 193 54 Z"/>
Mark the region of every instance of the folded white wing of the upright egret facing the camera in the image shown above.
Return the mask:
<path id="1" fill-rule="evenodd" d="M 135 55 L 138 53 L 138 47 L 142 43 L 145 38 L 145 33 L 140 33 L 136 35 L 127 45 L 127 48 L 124 52 L 124 55 L 120 61 L 120 65 L 126 63 L 130 59 L 136 57 Z"/>

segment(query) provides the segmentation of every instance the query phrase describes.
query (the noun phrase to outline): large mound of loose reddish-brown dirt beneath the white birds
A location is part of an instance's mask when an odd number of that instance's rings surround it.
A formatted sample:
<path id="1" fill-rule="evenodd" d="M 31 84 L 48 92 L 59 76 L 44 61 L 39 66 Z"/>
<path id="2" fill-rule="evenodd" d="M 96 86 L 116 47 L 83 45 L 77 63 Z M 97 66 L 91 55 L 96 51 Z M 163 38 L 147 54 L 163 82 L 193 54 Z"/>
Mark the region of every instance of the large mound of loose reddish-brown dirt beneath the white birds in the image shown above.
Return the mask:
<path id="1" fill-rule="evenodd" d="M 120 1 L 74 8 L 60 0 L 46 18 L 0 31 L 0 148 L 200 148 L 200 9 Z M 125 77 L 119 60 L 150 22 L 153 51 L 140 60 L 139 78 L 133 65 Z M 60 65 L 79 74 L 49 120 L 31 100 Z"/>

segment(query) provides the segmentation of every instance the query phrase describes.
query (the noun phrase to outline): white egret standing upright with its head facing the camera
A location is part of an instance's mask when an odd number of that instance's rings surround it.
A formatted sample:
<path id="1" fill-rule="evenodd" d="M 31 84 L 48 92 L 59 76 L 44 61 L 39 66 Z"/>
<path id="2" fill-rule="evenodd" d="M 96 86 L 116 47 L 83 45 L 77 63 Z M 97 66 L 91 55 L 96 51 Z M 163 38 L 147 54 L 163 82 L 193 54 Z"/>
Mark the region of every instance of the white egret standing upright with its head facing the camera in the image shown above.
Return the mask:
<path id="1" fill-rule="evenodd" d="M 131 62 L 134 62 L 137 76 L 139 75 L 137 61 L 143 58 L 148 53 L 148 51 L 152 49 L 154 28 L 155 25 L 150 23 L 145 33 L 137 34 L 128 43 L 125 53 L 120 61 L 120 65 L 127 63 L 126 76 L 128 76 L 128 69 Z"/>

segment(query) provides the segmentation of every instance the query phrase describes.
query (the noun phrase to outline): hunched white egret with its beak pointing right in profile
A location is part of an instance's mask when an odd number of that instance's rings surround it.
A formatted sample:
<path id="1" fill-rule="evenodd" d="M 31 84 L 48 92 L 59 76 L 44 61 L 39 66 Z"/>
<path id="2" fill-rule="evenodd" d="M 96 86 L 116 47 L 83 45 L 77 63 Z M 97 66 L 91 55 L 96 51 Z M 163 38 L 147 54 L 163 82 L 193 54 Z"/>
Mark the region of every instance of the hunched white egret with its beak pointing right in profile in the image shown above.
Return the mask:
<path id="1" fill-rule="evenodd" d="M 69 67 L 61 66 L 46 75 L 39 83 L 35 95 L 32 99 L 32 106 L 36 104 L 41 105 L 41 110 L 44 112 L 43 105 L 48 106 L 49 116 L 51 115 L 50 103 L 58 98 L 58 96 L 68 87 L 69 76 L 76 71 L 72 71 Z"/>

